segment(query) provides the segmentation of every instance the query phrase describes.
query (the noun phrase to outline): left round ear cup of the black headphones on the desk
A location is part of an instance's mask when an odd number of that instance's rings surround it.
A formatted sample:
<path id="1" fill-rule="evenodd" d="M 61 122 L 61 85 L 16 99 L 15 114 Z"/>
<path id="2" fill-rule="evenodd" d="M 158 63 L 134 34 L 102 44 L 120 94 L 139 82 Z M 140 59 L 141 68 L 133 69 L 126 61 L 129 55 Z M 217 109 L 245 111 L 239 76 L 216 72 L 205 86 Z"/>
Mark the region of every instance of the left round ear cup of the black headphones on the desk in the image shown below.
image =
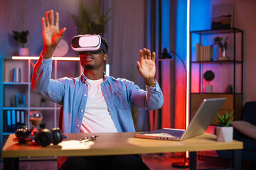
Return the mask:
<path id="1" fill-rule="evenodd" d="M 36 142 L 38 143 L 38 145 L 41 145 L 43 147 L 50 145 L 52 141 L 53 135 L 52 132 L 48 129 L 41 130 L 36 137 Z"/>

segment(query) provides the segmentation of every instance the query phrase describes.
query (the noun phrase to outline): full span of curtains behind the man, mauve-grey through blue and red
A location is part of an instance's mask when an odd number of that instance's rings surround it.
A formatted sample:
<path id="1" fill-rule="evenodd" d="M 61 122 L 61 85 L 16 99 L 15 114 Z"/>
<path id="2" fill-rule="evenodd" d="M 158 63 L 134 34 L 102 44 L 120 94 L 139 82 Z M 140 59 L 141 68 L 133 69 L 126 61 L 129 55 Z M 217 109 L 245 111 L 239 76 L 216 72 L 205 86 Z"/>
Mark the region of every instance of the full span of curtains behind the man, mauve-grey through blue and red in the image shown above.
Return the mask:
<path id="1" fill-rule="evenodd" d="M 158 61 L 164 47 L 176 51 L 177 6 L 176 0 L 112 0 L 104 5 L 105 11 L 112 8 L 105 36 L 110 45 L 110 76 L 132 80 L 144 89 L 144 80 L 137 72 L 139 50 L 147 47 L 156 52 L 156 79 L 164 93 L 164 106 L 156 111 L 137 110 L 137 131 L 185 128 L 186 100 L 182 94 L 186 89 L 180 75 L 176 77 L 183 68 L 177 60 Z M 186 49 L 186 42 L 183 47 Z"/>

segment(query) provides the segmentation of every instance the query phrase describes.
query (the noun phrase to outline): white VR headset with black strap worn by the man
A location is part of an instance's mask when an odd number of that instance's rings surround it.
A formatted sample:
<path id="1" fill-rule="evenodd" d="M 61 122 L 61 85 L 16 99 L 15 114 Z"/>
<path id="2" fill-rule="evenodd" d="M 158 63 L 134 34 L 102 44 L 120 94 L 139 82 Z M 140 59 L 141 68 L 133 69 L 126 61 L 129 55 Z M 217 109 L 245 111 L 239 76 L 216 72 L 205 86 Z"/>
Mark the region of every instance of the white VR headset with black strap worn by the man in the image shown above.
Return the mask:
<path id="1" fill-rule="evenodd" d="M 74 51 L 82 52 L 103 52 L 107 53 L 102 45 L 100 35 L 76 35 L 71 40 L 71 47 Z"/>

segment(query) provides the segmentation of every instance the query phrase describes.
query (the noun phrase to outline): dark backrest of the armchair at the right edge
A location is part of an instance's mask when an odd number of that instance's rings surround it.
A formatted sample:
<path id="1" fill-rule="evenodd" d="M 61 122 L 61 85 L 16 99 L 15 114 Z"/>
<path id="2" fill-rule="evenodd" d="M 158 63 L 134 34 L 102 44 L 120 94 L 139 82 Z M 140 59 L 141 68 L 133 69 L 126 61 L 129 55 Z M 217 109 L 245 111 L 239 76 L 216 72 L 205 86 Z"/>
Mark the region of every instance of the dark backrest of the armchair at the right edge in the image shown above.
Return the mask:
<path id="1" fill-rule="evenodd" d="M 252 125 L 256 125 L 256 101 L 245 103 L 245 106 L 242 109 L 242 120 L 245 120 Z"/>

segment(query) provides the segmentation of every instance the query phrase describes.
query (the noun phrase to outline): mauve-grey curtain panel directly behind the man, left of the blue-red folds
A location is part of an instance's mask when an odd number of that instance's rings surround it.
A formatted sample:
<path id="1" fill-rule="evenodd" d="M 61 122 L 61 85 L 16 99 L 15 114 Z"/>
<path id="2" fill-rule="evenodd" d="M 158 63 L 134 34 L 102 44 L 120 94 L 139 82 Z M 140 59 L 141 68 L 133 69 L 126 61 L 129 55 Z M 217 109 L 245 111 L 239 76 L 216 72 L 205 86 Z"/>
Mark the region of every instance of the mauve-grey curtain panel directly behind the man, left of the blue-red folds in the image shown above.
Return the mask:
<path id="1" fill-rule="evenodd" d="M 103 1 L 104 2 L 104 1 Z M 110 76 L 125 78 L 145 89 L 144 79 L 137 71 L 139 50 L 146 47 L 147 1 L 107 1 L 104 10 L 112 8 L 107 26 Z M 133 108 L 133 111 L 135 109 Z M 149 130 L 147 111 L 136 109 L 137 131 Z"/>

